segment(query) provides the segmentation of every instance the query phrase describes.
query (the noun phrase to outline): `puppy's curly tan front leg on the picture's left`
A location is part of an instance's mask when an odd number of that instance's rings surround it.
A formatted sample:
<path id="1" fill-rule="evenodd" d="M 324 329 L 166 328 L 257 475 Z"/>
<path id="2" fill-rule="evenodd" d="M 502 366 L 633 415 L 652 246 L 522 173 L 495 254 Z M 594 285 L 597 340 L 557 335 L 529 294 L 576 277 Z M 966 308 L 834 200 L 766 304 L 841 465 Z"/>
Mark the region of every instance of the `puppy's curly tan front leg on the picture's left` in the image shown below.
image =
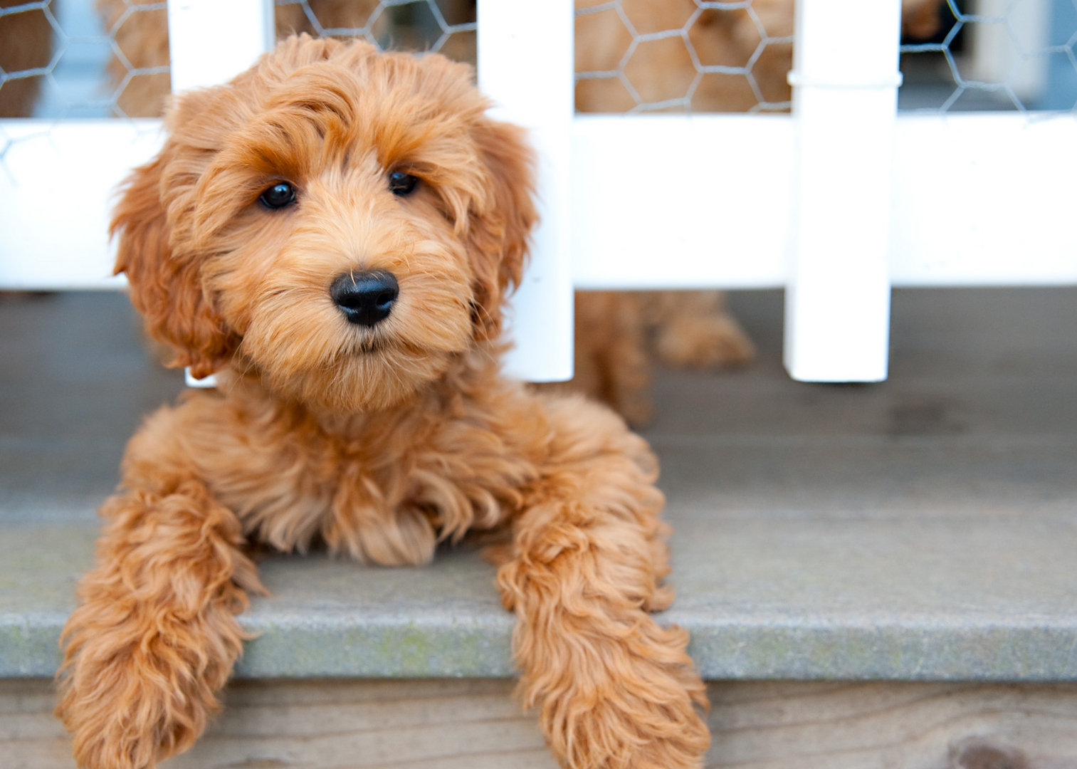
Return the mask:
<path id="1" fill-rule="evenodd" d="M 56 712 L 89 769 L 146 769 L 194 742 L 241 649 L 239 585 L 261 589 L 235 515 L 193 478 L 157 480 L 104 503 L 64 629 Z"/>

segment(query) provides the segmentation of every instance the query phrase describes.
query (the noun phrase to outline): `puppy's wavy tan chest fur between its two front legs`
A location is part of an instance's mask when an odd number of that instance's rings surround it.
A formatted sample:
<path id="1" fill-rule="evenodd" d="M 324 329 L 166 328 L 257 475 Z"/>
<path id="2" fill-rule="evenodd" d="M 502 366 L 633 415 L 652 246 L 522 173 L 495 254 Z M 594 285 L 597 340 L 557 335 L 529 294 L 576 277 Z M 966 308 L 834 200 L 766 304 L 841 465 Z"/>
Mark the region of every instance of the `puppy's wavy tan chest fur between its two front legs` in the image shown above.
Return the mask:
<path id="1" fill-rule="evenodd" d="M 353 542 L 341 546 L 363 553 L 364 540 L 397 528 L 429 537 L 432 548 L 439 535 L 496 526 L 534 475 L 473 424 L 423 432 L 375 425 L 348 437 L 262 427 L 234 432 L 223 448 L 227 457 L 206 467 L 214 494 L 248 535 L 282 550 L 346 536 Z"/>

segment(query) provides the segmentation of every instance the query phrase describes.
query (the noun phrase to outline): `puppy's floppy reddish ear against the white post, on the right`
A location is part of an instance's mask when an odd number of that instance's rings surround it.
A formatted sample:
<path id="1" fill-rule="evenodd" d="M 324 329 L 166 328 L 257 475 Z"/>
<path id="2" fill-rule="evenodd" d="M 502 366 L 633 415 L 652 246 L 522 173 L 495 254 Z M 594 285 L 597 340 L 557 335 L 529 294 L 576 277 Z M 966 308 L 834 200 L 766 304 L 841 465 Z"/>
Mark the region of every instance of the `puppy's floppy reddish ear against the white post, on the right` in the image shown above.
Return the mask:
<path id="1" fill-rule="evenodd" d="M 517 126 L 482 120 L 473 136 L 489 183 L 486 199 L 471 211 L 467 246 L 475 275 L 475 326 L 480 339 L 501 333 L 502 303 L 520 284 L 534 207 L 534 153 Z"/>

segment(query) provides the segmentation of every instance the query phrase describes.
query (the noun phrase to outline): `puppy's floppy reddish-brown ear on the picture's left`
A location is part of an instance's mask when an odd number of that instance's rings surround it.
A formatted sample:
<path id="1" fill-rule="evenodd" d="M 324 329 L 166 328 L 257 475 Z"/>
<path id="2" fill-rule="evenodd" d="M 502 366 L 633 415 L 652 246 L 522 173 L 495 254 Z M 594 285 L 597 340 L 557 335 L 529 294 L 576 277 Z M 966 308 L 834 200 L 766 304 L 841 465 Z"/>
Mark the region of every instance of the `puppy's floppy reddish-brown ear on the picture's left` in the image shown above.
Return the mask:
<path id="1" fill-rule="evenodd" d="M 191 366 L 202 378 L 225 366 L 238 339 L 205 296 L 198 260 L 173 253 L 169 243 L 162 200 L 166 153 L 127 180 L 110 228 L 120 234 L 115 274 L 126 274 L 131 304 L 150 336 L 176 353 L 167 365 Z"/>

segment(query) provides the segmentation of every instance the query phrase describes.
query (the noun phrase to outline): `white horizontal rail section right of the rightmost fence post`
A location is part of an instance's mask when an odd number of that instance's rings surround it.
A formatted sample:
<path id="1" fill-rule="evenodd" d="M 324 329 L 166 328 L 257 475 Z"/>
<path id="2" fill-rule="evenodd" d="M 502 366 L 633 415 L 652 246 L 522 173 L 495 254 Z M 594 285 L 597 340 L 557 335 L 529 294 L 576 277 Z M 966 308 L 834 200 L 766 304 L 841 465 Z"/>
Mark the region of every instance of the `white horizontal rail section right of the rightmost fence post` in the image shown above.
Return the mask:
<path id="1" fill-rule="evenodd" d="M 1077 283 L 1077 115 L 903 115 L 894 285 Z"/>

